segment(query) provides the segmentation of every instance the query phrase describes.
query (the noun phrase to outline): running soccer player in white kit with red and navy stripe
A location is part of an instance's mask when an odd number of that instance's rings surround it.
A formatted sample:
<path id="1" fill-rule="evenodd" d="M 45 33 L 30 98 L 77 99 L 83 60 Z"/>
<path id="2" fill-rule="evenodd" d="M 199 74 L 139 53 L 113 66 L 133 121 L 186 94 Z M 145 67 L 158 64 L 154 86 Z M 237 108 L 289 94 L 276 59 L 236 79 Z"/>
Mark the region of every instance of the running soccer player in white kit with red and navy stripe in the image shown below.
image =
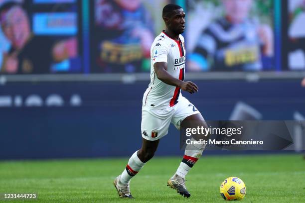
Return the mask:
<path id="1" fill-rule="evenodd" d="M 152 43 L 151 83 L 143 96 L 142 147 L 132 155 L 126 169 L 114 181 L 121 198 L 133 198 L 130 180 L 153 157 L 159 139 L 167 134 L 170 123 L 179 129 L 181 121 L 196 120 L 206 127 L 200 112 L 180 94 L 181 90 L 190 94 L 198 92 L 194 83 L 184 82 L 185 46 L 184 38 L 180 35 L 185 29 L 183 8 L 167 4 L 163 8 L 162 18 L 166 28 Z M 167 186 L 184 197 L 190 197 L 184 178 L 201 156 L 204 147 L 200 145 L 192 150 L 186 148 L 176 173 L 167 181 Z"/>

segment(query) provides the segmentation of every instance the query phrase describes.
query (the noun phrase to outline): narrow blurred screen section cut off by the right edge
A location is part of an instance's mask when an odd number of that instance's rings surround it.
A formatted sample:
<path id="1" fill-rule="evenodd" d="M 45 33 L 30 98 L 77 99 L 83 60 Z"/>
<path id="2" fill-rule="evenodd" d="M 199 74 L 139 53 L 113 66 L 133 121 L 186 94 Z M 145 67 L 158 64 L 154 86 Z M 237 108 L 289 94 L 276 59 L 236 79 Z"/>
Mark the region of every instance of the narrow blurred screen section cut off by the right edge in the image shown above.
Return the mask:
<path id="1" fill-rule="evenodd" d="M 288 9 L 288 68 L 305 70 L 305 0 L 289 0 Z"/>

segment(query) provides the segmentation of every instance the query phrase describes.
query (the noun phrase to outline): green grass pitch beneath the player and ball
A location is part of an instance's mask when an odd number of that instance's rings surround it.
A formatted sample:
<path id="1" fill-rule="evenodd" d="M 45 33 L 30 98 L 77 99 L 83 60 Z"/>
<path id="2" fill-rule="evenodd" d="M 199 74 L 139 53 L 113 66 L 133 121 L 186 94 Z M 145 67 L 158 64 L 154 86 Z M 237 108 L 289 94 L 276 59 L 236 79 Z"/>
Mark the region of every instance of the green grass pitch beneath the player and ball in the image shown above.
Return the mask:
<path id="1" fill-rule="evenodd" d="M 134 200 L 119 199 L 113 186 L 128 158 L 1 161 L 0 193 L 37 193 L 38 201 L 25 201 L 36 203 L 224 203 L 219 186 L 237 176 L 246 184 L 245 203 L 305 202 L 301 155 L 203 156 L 186 177 L 189 199 L 166 187 L 180 160 L 154 157 L 131 181 Z"/>

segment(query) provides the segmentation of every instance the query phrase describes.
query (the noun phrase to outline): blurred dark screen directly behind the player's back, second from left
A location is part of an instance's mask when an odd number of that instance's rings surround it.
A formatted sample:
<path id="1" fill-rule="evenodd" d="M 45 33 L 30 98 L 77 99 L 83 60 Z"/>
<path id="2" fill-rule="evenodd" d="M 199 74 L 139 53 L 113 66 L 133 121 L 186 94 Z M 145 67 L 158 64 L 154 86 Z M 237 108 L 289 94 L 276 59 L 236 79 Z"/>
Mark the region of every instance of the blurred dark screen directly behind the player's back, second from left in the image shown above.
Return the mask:
<path id="1" fill-rule="evenodd" d="M 91 72 L 150 71 L 151 46 L 169 0 L 92 0 Z"/>

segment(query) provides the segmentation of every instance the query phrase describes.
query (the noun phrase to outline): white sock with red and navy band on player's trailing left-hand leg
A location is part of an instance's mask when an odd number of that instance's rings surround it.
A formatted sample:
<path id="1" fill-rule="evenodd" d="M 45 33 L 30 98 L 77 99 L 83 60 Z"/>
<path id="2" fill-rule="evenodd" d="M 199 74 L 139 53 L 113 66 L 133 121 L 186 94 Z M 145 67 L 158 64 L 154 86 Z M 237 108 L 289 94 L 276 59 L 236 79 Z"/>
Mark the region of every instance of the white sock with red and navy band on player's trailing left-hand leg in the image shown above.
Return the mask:
<path id="1" fill-rule="evenodd" d="M 124 169 L 123 173 L 121 174 L 120 182 L 123 184 L 128 184 L 130 179 L 132 179 L 145 165 L 143 163 L 136 151 L 129 159 L 126 169 Z"/>

